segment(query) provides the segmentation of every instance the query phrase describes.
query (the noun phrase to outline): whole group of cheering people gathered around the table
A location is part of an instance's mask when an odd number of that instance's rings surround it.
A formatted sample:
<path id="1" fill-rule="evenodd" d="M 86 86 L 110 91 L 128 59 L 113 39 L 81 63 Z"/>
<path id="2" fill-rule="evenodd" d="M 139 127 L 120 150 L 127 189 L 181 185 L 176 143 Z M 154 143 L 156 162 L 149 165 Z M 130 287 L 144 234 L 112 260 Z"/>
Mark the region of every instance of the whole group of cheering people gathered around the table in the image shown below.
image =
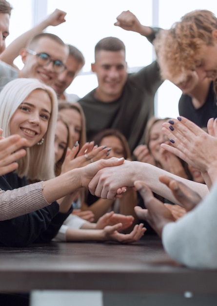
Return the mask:
<path id="1" fill-rule="evenodd" d="M 134 242 L 145 220 L 172 258 L 217 268 L 215 15 L 196 10 L 164 30 L 122 12 L 115 25 L 145 36 L 157 61 L 129 74 L 122 41 L 103 38 L 92 64 L 99 85 L 79 98 L 66 88 L 82 53 L 42 32 L 66 13 L 5 47 L 11 9 L 0 0 L 0 243 Z M 183 92 L 177 119 L 153 117 L 164 79 Z"/>

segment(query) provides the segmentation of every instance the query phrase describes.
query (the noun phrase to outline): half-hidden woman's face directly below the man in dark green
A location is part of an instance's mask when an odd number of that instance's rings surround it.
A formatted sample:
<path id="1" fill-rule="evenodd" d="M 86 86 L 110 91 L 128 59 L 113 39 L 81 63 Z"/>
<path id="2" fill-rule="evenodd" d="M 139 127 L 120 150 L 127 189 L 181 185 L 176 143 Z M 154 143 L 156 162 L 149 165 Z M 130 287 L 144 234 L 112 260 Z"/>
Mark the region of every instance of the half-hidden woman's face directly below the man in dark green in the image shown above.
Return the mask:
<path id="1" fill-rule="evenodd" d="M 99 145 L 112 148 L 109 157 L 118 157 L 118 158 L 124 157 L 123 156 L 124 149 L 122 143 L 120 139 L 116 136 L 110 135 L 102 138 Z"/>

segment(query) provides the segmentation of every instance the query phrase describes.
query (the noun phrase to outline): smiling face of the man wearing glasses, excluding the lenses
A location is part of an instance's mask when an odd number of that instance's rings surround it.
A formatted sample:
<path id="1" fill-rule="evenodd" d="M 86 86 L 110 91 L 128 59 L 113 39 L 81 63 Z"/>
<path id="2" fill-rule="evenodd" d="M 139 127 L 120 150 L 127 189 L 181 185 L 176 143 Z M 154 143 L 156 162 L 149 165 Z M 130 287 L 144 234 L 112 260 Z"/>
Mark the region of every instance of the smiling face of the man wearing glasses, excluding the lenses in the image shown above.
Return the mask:
<path id="1" fill-rule="evenodd" d="M 63 64 L 66 63 L 68 57 L 68 47 L 60 45 L 48 37 L 42 37 L 33 47 L 29 47 L 32 51 L 48 54 L 52 60 L 59 60 Z M 46 66 L 39 65 L 38 56 L 28 53 L 28 49 L 20 51 L 24 66 L 20 71 L 20 76 L 25 78 L 36 78 L 45 83 L 46 85 L 53 85 L 57 78 L 58 73 L 55 72 L 53 62 Z"/>

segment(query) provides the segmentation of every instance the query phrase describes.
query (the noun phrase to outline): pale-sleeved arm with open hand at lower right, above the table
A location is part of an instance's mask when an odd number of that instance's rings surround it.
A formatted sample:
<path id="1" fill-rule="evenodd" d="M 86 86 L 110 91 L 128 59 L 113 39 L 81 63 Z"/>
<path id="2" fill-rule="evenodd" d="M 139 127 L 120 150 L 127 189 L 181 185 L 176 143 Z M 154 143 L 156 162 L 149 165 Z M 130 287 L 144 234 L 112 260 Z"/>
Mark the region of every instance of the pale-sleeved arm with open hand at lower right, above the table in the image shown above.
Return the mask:
<path id="1" fill-rule="evenodd" d="M 173 221 L 172 214 L 154 198 L 141 181 L 135 187 L 145 199 L 148 209 L 136 207 L 138 216 L 146 219 L 162 235 L 166 252 L 176 261 L 194 268 L 217 268 L 217 184 L 197 207 Z"/>

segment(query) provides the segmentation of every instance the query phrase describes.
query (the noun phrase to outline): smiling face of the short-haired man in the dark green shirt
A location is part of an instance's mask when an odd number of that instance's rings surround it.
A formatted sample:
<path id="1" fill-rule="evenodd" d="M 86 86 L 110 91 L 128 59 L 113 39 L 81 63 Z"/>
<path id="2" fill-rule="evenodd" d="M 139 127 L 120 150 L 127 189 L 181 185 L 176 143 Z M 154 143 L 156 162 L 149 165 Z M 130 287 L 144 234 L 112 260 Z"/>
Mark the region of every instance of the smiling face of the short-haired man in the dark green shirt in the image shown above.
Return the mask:
<path id="1" fill-rule="evenodd" d="M 100 50 L 96 56 L 92 71 L 98 78 L 97 98 L 103 102 L 118 99 L 127 79 L 125 52 Z"/>

